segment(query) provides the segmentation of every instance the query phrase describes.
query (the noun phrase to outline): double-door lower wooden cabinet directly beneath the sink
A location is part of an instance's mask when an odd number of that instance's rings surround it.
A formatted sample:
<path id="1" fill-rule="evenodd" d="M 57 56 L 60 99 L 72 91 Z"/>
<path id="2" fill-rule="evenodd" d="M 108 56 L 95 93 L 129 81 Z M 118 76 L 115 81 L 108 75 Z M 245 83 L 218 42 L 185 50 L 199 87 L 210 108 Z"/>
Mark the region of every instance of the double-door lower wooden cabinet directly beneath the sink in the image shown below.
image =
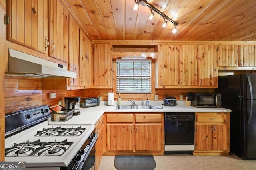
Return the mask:
<path id="1" fill-rule="evenodd" d="M 107 154 L 163 153 L 162 113 L 108 113 Z"/>

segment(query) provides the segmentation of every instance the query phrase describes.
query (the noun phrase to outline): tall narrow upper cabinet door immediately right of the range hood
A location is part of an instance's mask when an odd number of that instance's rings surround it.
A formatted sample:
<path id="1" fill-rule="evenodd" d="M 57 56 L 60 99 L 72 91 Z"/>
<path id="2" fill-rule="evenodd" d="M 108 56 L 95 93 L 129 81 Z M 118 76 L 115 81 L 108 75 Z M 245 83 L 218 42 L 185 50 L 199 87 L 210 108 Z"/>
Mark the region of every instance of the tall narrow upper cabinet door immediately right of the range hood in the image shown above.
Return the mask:
<path id="1" fill-rule="evenodd" d="M 68 16 L 68 70 L 76 72 L 77 78 L 69 78 L 69 86 L 79 86 L 79 27 L 76 21 Z"/>

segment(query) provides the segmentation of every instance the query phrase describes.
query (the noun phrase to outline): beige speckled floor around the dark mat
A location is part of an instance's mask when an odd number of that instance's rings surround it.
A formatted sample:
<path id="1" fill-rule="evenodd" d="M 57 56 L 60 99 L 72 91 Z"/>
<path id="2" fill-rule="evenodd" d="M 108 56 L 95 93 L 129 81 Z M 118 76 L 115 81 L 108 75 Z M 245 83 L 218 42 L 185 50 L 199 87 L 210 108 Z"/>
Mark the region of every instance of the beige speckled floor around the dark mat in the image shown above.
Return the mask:
<path id="1" fill-rule="evenodd" d="M 116 170 L 115 156 L 103 156 L 99 170 Z M 154 156 L 154 170 L 256 170 L 256 160 L 242 160 L 237 156 Z"/>

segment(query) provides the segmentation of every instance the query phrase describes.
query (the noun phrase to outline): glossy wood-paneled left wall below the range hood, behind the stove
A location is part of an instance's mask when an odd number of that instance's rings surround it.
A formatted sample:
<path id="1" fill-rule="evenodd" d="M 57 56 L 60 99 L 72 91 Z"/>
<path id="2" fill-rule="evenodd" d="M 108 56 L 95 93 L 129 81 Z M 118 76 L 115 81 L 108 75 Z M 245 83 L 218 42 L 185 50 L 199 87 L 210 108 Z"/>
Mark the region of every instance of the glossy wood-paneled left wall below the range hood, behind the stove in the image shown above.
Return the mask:
<path id="1" fill-rule="evenodd" d="M 56 93 L 56 98 L 49 98 L 50 93 Z M 83 90 L 42 90 L 41 78 L 24 78 L 5 76 L 4 79 L 5 113 L 28 107 L 47 104 L 49 107 L 58 106 L 64 97 L 83 96 Z"/>

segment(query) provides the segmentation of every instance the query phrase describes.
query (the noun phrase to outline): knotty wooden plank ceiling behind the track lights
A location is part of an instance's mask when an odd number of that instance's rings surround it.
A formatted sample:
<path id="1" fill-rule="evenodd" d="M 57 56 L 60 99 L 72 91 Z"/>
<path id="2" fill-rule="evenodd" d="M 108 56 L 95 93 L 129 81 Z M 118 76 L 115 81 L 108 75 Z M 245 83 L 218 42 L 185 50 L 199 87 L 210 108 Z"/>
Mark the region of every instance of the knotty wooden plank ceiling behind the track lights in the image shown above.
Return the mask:
<path id="1" fill-rule="evenodd" d="M 134 0 L 60 0 L 92 40 L 256 41 L 256 0 L 147 0 L 178 23 L 162 27 Z"/>

